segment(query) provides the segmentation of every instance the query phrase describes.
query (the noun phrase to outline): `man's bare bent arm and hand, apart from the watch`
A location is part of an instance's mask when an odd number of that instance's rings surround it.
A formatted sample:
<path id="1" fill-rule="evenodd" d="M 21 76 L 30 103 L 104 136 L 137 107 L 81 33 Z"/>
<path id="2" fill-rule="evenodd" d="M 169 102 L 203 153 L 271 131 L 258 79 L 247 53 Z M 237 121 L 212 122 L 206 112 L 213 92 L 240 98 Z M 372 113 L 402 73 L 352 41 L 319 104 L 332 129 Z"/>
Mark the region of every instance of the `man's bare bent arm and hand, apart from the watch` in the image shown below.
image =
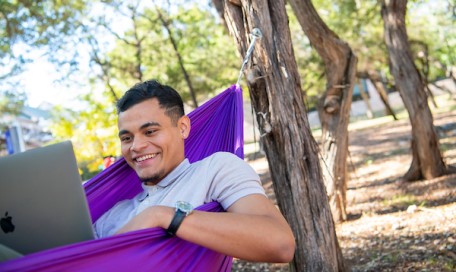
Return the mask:
<path id="1" fill-rule="evenodd" d="M 118 233 L 161 227 L 167 229 L 174 208 L 149 207 Z M 176 235 L 189 242 L 236 258 L 286 263 L 295 250 L 293 233 L 279 210 L 263 195 L 240 198 L 225 213 L 193 211 Z"/>

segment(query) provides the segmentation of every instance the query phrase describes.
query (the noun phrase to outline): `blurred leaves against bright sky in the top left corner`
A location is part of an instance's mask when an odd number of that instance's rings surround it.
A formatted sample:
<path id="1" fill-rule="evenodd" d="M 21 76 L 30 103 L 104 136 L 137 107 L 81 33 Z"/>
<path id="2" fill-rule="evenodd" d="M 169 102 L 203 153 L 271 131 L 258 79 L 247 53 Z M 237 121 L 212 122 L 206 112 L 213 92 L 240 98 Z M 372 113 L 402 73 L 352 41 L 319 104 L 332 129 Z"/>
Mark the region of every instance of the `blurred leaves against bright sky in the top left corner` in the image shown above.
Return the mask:
<path id="1" fill-rule="evenodd" d="M 46 47 L 55 53 L 66 48 L 89 7 L 85 0 L 0 0 L 0 77 L 20 73 L 32 61 L 27 56 L 32 49 Z"/>

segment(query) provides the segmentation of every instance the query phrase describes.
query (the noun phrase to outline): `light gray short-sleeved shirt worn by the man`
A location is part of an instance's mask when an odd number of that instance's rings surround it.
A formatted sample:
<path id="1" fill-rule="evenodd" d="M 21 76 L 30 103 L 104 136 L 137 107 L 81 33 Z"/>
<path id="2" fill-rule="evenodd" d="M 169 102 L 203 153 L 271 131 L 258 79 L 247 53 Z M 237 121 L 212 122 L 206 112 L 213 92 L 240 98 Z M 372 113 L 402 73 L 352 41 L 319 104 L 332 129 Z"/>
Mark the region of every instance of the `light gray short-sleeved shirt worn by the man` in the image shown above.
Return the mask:
<path id="1" fill-rule="evenodd" d="M 226 210 L 244 196 L 266 196 L 258 174 L 243 160 L 227 152 L 217 152 L 192 164 L 185 159 L 157 185 L 142 186 L 143 192 L 117 203 L 95 222 L 97 237 L 113 235 L 149 206 L 173 207 L 181 200 L 198 207 L 217 201 Z"/>

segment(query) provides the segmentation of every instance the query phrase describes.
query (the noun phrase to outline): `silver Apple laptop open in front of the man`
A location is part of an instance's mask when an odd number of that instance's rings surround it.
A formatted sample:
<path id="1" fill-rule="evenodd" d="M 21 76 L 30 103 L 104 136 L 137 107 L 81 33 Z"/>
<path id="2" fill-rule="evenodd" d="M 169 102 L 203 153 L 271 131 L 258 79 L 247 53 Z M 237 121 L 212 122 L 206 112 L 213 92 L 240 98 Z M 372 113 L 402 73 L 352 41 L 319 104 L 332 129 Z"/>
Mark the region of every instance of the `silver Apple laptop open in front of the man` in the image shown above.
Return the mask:
<path id="1" fill-rule="evenodd" d="M 0 227 L 22 254 L 94 238 L 71 142 L 0 158 Z"/>

